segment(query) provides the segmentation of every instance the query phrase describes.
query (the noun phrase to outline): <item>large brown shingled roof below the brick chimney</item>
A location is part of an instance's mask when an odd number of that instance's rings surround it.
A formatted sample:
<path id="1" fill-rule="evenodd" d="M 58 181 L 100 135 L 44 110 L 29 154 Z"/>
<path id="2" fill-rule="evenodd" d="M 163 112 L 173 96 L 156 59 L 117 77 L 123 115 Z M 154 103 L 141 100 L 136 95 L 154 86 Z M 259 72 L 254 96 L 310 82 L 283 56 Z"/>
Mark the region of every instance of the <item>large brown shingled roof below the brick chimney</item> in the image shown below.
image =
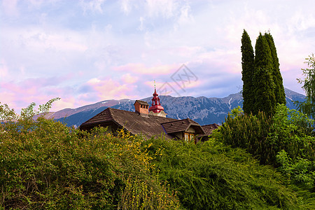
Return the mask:
<path id="1" fill-rule="evenodd" d="M 80 125 L 80 129 L 88 130 L 97 125 L 106 125 L 108 123 L 115 123 L 119 127 L 124 127 L 131 134 L 144 134 L 146 137 L 160 136 L 165 134 L 162 123 L 169 123 L 177 121 L 172 118 L 163 118 L 159 116 L 149 115 L 147 118 L 132 111 L 125 111 L 120 109 L 107 108 L 101 113 L 97 114 L 90 120 Z M 192 120 L 193 121 L 193 120 Z M 174 137 L 165 135 L 167 139 Z"/>

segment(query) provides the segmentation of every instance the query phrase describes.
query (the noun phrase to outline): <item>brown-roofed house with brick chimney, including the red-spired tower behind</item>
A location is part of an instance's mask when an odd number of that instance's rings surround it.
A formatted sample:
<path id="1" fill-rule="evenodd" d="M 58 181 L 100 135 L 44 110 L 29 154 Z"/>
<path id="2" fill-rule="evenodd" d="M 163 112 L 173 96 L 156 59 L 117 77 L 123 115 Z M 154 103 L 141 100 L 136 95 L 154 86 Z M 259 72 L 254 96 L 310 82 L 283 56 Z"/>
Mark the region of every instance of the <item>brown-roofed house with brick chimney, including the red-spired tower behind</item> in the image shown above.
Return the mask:
<path id="1" fill-rule="evenodd" d="M 107 108 L 90 120 L 80 125 L 80 130 L 91 130 L 93 127 L 108 127 L 109 132 L 124 128 L 131 134 L 142 135 L 145 138 L 160 137 L 166 139 L 184 139 L 188 142 L 207 140 L 209 134 L 218 128 L 218 125 L 199 125 L 189 118 L 177 120 L 167 118 L 156 90 L 153 93 L 150 108 L 147 102 L 134 102 L 135 111 Z"/>

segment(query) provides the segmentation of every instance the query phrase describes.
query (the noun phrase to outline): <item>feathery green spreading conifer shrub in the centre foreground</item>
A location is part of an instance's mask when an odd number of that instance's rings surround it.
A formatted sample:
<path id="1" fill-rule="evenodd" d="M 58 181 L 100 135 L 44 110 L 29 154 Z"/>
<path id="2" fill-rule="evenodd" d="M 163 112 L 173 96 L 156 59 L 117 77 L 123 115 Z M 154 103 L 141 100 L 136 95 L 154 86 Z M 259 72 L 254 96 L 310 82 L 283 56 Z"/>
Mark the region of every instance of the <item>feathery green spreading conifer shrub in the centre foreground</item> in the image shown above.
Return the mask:
<path id="1" fill-rule="evenodd" d="M 218 141 L 188 144 L 151 139 L 149 153 L 186 209 L 300 209 L 281 175 L 239 148 Z"/>

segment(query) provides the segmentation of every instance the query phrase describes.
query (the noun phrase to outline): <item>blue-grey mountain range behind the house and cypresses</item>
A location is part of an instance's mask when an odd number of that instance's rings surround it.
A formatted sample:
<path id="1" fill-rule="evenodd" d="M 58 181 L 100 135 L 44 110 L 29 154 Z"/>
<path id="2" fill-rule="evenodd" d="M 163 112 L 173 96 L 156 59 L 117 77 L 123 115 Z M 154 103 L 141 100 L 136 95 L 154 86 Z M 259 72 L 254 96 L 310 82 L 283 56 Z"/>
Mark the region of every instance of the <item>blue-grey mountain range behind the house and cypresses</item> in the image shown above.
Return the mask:
<path id="1" fill-rule="evenodd" d="M 286 106 L 289 109 L 295 109 L 293 101 L 304 101 L 305 96 L 285 88 Z M 141 99 L 142 101 L 151 104 L 152 97 Z M 62 109 L 49 114 L 49 118 L 66 123 L 68 126 L 78 127 L 86 120 L 89 120 L 98 113 L 111 107 L 114 109 L 123 109 L 126 111 L 134 111 L 135 100 L 106 100 L 82 106 L 77 109 Z M 241 92 L 230 94 L 228 97 L 172 97 L 160 96 L 160 103 L 167 113 L 167 118 L 185 119 L 190 118 L 195 120 L 200 125 L 217 123 L 219 125 L 225 120 L 232 109 L 243 105 Z"/>

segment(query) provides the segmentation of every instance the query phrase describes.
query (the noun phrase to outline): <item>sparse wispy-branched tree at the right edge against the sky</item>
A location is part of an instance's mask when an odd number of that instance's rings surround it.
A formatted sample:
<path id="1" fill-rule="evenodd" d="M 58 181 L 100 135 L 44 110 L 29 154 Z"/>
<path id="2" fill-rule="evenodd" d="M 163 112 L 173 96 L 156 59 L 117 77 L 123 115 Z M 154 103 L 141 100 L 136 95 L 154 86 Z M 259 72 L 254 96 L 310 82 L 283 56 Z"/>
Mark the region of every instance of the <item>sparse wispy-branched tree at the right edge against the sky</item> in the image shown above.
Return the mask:
<path id="1" fill-rule="evenodd" d="M 300 84 L 303 84 L 302 88 L 306 93 L 305 102 L 295 102 L 300 111 L 307 114 L 311 118 L 315 118 L 315 57 L 314 54 L 309 55 L 307 59 L 307 65 L 310 69 L 302 69 L 304 80 L 297 79 Z"/>

